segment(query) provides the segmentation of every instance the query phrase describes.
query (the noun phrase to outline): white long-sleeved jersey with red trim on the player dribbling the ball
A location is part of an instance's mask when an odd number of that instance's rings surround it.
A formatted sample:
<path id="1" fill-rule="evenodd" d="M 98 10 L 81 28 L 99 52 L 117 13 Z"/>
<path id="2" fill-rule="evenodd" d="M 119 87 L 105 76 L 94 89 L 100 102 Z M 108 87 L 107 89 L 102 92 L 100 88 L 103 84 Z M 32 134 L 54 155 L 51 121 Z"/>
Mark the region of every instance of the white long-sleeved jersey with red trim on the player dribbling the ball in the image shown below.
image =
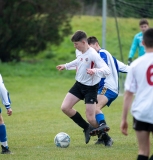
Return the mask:
<path id="1" fill-rule="evenodd" d="M 67 70 L 76 68 L 75 79 L 87 86 L 93 86 L 110 74 L 110 69 L 106 63 L 100 58 L 97 52 L 93 48 L 89 48 L 85 53 L 79 52 L 79 56 L 70 62 L 65 64 Z M 87 74 L 87 69 L 94 69 L 95 74 Z"/>

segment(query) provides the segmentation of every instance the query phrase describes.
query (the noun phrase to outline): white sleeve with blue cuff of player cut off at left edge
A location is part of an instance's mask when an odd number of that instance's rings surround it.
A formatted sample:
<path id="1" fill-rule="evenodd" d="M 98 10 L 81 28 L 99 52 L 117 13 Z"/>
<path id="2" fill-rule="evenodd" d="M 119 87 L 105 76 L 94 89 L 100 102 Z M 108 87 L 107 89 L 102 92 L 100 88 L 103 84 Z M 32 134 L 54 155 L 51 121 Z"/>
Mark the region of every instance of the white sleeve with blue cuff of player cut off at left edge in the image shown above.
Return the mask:
<path id="1" fill-rule="evenodd" d="M 1 74 L 0 74 L 0 99 L 2 100 L 2 103 L 6 107 L 6 109 L 10 108 L 11 101 L 9 99 L 8 91 L 4 86 Z"/>

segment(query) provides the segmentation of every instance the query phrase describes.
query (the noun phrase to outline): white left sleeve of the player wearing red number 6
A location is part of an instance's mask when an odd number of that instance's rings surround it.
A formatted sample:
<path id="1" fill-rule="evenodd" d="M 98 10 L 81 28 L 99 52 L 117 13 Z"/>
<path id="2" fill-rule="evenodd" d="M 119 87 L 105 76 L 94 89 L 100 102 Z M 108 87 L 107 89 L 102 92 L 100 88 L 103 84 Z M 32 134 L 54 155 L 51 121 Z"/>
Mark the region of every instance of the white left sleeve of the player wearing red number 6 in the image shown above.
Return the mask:
<path id="1" fill-rule="evenodd" d="M 135 80 L 132 67 L 130 67 L 130 69 L 127 73 L 125 84 L 124 84 L 124 89 L 125 89 L 125 91 L 127 90 L 127 91 L 130 91 L 130 92 L 133 92 L 133 93 L 136 92 L 137 82 Z"/>

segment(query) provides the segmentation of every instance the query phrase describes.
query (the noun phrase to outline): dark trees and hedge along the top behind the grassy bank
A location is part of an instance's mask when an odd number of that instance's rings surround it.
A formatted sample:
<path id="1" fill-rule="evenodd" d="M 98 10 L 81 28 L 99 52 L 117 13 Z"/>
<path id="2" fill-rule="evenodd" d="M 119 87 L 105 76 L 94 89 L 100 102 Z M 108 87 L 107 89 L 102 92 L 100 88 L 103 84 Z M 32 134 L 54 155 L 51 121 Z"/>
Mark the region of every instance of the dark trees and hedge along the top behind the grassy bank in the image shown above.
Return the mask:
<path id="1" fill-rule="evenodd" d="M 74 15 L 102 14 L 103 0 L 0 0 L 0 60 L 20 61 L 59 45 Z M 107 15 L 153 17 L 152 0 L 107 0 Z"/>

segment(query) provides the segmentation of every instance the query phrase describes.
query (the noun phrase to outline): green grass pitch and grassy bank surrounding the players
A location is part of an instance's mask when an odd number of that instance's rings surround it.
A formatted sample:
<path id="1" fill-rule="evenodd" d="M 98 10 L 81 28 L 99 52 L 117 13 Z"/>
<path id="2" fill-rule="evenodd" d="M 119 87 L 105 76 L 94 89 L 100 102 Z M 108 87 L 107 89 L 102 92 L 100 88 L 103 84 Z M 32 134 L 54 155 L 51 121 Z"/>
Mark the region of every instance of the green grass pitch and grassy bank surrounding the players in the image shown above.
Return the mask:
<path id="1" fill-rule="evenodd" d="M 118 19 L 125 62 L 132 38 L 139 31 L 138 19 Z M 152 21 L 149 20 L 150 26 Z M 101 17 L 75 16 L 73 32 L 85 30 L 89 36 L 98 37 L 101 43 Z M 132 25 L 131 25 L 132 24 Z M 106 49 L 120 60 L 114 18 L 107 19 Z M 49 56 L 54 56 L 48 59 Z M 74 47 L 70 36 L 60 46 L 49 46 L 39 56 L 20 63 L 0 63 L 0 73 L 10 92 L 13 115 L 8 117 L 5 108 L 3 117 L 7 126 L 8 142 L 12 155 L 0 155 L 0 160 L 135 160 L 137 141 L 129 115 L 129 136 L 120 132 L 123 97 L 118 97 L 110 108 L 104 108 L 110 136 L 114 140 L 111 148 L 94 145 L 96 137 L 85 144 L 82 129 L 60 110 L 65 94 L 74 83 L 73 71 L 57 72 L 55 66 L 74 59 Z M 36 59 L 36 60 L 35 60 Z M 83 101 L 75 106 L 85 117 Z M 71 137 L 66 149 L 57 148 L 53 142 L 59 132 Z M 152 149 L 152 148 L 151 148 Z"/>

